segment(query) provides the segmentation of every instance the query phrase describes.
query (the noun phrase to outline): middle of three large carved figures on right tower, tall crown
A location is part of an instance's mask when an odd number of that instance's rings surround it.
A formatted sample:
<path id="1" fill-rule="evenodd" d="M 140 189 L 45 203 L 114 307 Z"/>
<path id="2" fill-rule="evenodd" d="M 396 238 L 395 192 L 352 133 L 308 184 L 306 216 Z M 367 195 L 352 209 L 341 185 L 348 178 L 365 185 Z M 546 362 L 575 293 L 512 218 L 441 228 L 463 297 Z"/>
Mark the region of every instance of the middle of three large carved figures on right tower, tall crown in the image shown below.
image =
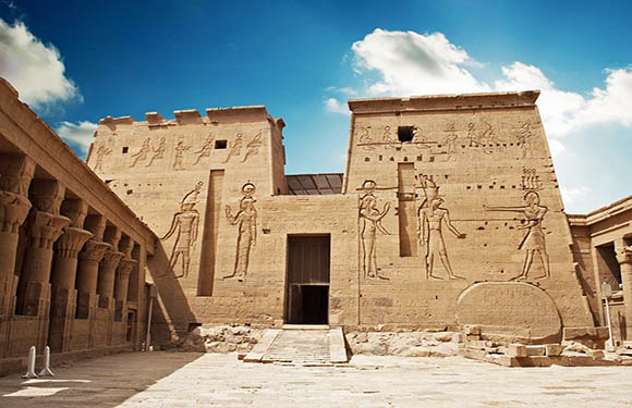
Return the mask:
<path id="1" fill-rule="evenodd" d="M 458 280 L 461 277 L 452 271 L 450 260 L 448 258 L 448 251 L 446 250 L 446 243 L 443 240 L 442 223 L 446 222 L 448 230 L 457 236 L 457 238 L 465 238 L 465 234 L 462 234 L 457 230 L 450 220 L 450 212 L 448 209 L 442 208 L 443 199 L 439 196 L 439 187 L 429 180 L 424 174 L 420 175 L 421 187 L 424 190 L 426 199 L 422 202 L 418 210 L 420 222 L 420 244 L 426 246 L 426 279 L 441 279 L 436 276 L 434 272 L 435 258 L 439 258 L 446 272 L 448 273 L 448 279 Z"/>

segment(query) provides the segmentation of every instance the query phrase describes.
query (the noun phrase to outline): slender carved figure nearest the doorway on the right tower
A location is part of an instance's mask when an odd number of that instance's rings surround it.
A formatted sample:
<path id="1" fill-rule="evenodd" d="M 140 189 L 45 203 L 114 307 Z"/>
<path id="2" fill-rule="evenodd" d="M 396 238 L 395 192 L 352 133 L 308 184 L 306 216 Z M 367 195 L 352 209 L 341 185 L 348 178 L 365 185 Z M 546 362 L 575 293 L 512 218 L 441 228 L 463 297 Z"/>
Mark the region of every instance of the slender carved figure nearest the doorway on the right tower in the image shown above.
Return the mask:
<path id="1" fill-rule="evenodd" d="M 377 268 L 377 252 L 376 239 L 377 232 L 385 235 L 390 233 L 381 225 L 381 219 L 388 213 L 390 202 L 384 205 L 384 209 L 377 209 L 377 199 L 374 196 L 376 188 L 374 181 L 366 181 L 362 185 L 364 194 L 360 197 L 360 237 L 362 242 L 362 271 L 364 277 L 388 280 L 387 276 L 380 274 L 380 269 Z"/>

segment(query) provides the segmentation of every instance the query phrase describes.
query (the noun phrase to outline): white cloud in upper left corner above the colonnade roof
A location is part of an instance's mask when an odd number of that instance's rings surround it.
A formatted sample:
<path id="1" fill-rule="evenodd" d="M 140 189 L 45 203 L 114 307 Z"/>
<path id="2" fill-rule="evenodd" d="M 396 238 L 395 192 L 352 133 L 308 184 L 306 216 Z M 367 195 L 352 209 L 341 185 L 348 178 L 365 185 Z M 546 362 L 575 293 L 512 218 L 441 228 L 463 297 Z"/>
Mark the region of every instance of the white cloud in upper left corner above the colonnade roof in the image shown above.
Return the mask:
<path id="1" fill-rule="evenodd" d="M 34 109 L 54 102 L 81 99 L 73 82 L 64 74 L 59 50 L 36 38 L 24 23 L 12 26 L 0 18 L 0 76 Z"/>

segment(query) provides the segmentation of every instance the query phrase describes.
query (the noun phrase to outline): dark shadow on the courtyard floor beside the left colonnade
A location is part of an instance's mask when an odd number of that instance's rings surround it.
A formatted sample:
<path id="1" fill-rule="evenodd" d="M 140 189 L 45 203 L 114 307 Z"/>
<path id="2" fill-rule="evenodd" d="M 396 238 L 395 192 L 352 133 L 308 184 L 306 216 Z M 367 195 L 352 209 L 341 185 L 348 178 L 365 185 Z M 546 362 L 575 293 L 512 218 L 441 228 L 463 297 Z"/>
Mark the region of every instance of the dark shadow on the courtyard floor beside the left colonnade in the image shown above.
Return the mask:
<path id="1" fill-rule="evenodd" d="M 0 407 L 117 407 L 203 354 L 124 353 L 54 368 L 54 376 L 0 379 Z M 156 362 L 159 356 L 160 362 Z"/>

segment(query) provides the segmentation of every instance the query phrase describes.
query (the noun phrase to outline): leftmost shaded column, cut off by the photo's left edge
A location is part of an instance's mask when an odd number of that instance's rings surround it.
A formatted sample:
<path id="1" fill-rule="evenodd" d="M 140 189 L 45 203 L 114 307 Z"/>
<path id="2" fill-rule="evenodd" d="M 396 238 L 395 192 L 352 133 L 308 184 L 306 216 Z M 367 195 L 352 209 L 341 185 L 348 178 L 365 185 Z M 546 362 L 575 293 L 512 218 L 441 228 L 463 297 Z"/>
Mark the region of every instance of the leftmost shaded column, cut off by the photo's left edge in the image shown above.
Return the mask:
<path id="1" fill-rule="evenodd" d="M 15 256 L 20 226 L 32 207 L 27 195 L 34 172 L 35 163 L 24 156 L 0 156 L 0 358 L 8 353 L 17 289 Z"/>

